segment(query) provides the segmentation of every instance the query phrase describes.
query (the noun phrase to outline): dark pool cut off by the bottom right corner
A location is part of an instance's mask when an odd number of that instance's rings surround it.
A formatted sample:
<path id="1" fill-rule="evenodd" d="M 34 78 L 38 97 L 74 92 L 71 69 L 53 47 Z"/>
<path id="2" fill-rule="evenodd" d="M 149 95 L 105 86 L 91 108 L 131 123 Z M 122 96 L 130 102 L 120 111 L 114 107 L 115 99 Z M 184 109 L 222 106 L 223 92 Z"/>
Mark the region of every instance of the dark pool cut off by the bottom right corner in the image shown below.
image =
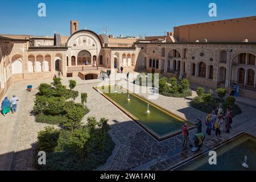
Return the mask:
<path id="1" fill-rule="evenodd" d="M 209 155 L 206 152 L 188 163 L 176 167 L 177 171 L 256 171 L 256 138 L 249 134 L 241 134 L 234 139 L 213 149 L 217 153 L 217 164 L 208 163 Z M 242 166 L 247 156 L 246 164 Z"/>

